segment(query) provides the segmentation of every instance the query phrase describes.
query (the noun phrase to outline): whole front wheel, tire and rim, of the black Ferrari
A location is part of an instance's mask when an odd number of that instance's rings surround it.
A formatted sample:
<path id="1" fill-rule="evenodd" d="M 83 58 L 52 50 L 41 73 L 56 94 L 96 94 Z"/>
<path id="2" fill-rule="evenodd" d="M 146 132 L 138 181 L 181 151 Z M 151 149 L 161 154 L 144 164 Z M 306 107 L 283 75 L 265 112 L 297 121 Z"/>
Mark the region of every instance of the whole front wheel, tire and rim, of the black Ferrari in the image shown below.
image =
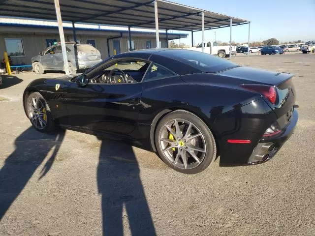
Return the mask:
<path id="1" fill-rule="evenodd" d="M 50 132 L 55 129 L 50 108 L 39 92 L 31 93 L 26 100 L 26 112 L 32 126 L 40 132 Z"/>

